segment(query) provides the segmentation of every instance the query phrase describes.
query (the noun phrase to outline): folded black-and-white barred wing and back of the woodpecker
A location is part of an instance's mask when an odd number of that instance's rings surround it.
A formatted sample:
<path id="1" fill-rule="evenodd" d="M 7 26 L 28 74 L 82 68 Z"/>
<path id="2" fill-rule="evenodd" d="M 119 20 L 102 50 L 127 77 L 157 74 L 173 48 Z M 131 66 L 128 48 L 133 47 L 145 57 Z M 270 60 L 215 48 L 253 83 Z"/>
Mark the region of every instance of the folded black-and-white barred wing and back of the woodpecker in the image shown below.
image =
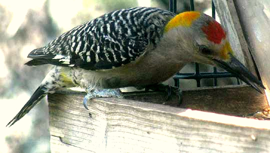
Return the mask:
<path id="1" fill-rule="evenodd" d="M 54 64 L 84 69 L 109 69 L 135 60 L 155 47 L 172 12 L 134 7 L 106 13 L 32 50 L 27 65 Z"/>

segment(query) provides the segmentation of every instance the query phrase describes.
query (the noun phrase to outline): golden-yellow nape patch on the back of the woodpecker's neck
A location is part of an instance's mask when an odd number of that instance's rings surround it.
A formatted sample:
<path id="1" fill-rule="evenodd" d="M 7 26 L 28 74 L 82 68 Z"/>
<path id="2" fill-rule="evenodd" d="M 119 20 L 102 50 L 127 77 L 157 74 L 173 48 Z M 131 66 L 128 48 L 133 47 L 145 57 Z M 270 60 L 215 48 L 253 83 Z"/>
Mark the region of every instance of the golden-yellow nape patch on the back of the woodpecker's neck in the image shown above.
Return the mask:
<path id="1" fill-rule="evenodd" d="M 185 11 L 179 13 L 173 17 L 165 26 L 164 31 L 167 32 L 170 29 L 177 26 L 190 26 L 192 22 L 200 16 L 200 13 L 197 11 Z"/>

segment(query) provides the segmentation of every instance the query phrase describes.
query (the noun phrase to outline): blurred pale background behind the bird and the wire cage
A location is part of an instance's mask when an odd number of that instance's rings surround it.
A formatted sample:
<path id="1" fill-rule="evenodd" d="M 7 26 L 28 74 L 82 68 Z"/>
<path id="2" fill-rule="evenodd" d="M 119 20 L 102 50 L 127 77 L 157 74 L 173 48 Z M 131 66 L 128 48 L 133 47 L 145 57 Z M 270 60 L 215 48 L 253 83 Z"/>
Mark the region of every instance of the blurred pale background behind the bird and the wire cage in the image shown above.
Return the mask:
<path id="1" fill-rule="evenodd" d="M 211 0 L 194 1 L 195 10 L 211 15 Z M 14 125 L 5 127 L 49 68 L 24 65 L 27 54 L 78 24 L 134 6 L 168 9 L 168 0 L 0 0 L 0 152 L 50 152 L 46 98 Z M 177 8 L 178 12 L 188 10 L 189 0 L 177 0 Z M 200 68 L 211 71 L 209 66 Z M 193 64 L 181 71 L 192 72 Z M 211 79 L 203 82 L 212 84 Z M 195 87 L 195 81 L 181 80 L 180 85 Z"/>

